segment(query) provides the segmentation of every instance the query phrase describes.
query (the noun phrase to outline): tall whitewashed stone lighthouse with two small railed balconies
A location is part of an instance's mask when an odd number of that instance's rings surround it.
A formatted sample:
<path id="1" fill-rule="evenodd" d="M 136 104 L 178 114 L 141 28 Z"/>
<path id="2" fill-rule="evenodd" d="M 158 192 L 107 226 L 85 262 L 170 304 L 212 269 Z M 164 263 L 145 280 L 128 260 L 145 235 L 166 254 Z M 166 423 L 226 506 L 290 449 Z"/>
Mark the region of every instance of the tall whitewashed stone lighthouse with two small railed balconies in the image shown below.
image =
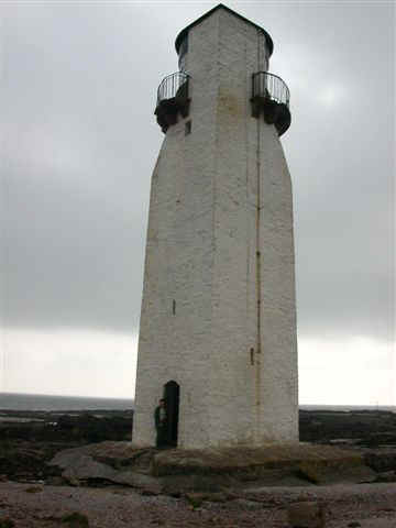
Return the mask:
<path id="1" fill-rule="evenodd" d="M 289 91 L 265 30 L 219 4 L 157 91 L 133 443 L 298 441 Z"/>

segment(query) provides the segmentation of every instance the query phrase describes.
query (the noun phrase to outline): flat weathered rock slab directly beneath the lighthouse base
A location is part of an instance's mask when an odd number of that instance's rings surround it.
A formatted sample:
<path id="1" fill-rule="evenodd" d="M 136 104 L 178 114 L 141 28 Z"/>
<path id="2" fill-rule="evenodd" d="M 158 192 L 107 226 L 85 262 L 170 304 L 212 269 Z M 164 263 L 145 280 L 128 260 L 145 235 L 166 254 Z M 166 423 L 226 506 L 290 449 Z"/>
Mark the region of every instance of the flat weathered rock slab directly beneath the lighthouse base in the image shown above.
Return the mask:
<path id="1" fill-rule="evenodd" d="M 63 479 L 73 485 L 109 481 L 151 494 L 178 496 L 307 482 L 371 482 L 376 477 L 359 453 L 309 444 L 157 451 L 136 450 L 128 442 L 102 442 L 61 451 L 50 464 L 61 468 Z"/>

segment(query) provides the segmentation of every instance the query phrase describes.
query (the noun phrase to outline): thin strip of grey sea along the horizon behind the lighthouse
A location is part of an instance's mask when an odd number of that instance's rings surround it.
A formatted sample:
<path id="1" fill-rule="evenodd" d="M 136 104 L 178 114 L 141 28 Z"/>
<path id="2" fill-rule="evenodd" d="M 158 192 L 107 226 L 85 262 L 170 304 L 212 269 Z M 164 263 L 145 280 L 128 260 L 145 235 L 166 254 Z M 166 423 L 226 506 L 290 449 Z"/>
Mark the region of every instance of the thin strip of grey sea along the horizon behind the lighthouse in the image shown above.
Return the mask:
<path id="1" fill-rule="evenodd" d="M 82 396 L 51 396 L 44 394 L 0 393 L 0 410 L 131 410 L 132 398 L 92 398 Z M 349 411 L 388 410 L 392 405 L 300 405 L 301 410 Z"/>

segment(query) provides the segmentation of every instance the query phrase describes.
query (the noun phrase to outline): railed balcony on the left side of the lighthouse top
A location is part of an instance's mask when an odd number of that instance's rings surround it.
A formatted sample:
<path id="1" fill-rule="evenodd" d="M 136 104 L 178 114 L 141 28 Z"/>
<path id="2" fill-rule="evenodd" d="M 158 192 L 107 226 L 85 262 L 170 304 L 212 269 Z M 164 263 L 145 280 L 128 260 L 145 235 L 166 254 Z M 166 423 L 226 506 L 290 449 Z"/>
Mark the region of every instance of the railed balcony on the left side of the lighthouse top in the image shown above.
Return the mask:
<path id="1" fill-rule="evenodd" d="M 167 75 L 158 86 L 155 116 L 161 130 L 177 123 L 178 117 L 187 118 L 190 98 L 188 94 L 189 76 L 184 72 Z"/>

